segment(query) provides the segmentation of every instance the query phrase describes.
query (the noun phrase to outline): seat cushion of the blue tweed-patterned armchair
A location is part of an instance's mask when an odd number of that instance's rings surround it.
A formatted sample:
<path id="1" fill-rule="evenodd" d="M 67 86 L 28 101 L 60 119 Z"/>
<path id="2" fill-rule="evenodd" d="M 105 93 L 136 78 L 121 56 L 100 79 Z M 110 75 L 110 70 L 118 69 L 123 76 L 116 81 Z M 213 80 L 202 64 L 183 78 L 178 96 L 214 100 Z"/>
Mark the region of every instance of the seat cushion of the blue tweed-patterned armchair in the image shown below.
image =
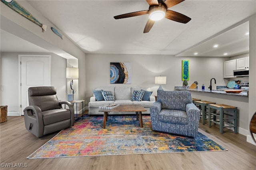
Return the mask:
<path id="1" fill-rule="evenodd" d="M 186 111 L 162 109 L 159 113 L 159 121 L 178 125 L 188 124 L 188 115 Z"/>

